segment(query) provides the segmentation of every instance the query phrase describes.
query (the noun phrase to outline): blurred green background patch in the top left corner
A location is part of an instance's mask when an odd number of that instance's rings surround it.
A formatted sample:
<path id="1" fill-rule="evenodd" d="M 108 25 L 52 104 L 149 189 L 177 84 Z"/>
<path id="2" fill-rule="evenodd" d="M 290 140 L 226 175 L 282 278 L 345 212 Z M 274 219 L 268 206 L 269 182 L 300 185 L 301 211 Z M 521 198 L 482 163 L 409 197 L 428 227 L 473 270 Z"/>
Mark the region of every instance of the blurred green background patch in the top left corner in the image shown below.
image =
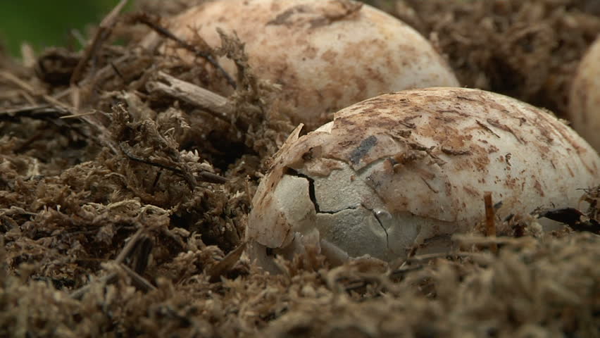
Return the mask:
<path id="1" fill-rule="evenodd" d="M 46 46 L 80 45 L 70 31 L 87 37 L 87 24 L 99 23 L 119 0 L 0 0 L 0 43 L 13 56 L 29 42 L 36 51 Z M 131 1 L 130 1 L 131 2 Z"/>

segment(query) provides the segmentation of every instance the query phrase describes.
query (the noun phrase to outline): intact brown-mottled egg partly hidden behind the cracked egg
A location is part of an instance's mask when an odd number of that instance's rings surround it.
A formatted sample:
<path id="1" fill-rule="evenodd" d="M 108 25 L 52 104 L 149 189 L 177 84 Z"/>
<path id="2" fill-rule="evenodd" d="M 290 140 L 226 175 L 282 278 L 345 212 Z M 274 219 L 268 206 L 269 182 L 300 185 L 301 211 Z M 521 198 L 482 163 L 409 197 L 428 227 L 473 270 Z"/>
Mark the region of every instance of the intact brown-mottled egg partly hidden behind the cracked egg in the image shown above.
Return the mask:
<path id="1" fill-rule="evenodd" d="M 187 41 L 199 35 L 218 47 L 218 27 L 237 33 L 256 75 L 282 87 L 275 94 L 281 111 L 311 130 L 335 111 L 378 94 L 459 85 L 418 32 L 355 1 L 212 1 L 170 20 L 168 28 Z M 220 63 L 236 73 L 232 61 Z"/>

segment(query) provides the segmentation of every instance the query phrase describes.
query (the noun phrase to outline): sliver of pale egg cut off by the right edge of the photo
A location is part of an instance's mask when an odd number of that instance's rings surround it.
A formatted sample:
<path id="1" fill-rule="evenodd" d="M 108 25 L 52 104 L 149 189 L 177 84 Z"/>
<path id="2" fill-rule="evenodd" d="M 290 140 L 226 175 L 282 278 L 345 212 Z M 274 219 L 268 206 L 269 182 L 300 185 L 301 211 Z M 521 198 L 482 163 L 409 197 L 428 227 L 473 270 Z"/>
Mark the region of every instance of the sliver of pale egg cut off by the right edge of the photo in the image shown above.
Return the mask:
<path id="1" fill-rule="evenodd" d="M 600 37 L 583 57 L 569 98 L 569 118 L 573 129 L 600 150 Z"/>

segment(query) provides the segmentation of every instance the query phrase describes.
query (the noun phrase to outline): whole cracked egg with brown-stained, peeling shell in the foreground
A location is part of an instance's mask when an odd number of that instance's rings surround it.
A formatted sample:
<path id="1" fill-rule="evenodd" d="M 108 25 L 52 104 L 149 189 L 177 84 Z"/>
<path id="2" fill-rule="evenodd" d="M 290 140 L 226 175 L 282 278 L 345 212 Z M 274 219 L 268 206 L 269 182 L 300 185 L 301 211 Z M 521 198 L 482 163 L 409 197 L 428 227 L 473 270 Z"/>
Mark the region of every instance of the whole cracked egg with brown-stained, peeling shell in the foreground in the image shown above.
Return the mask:
<path id="1" fill-rule="evenodd" d="M 450 236 L 497 212 L 577 206 L 600 183 L 600 159 L 546 111 L 477 89 L 385 94 L 344 108 L 335 120 L 275 155 L 252 201 L 249 255 L 276 270 L 307 244 L 333 261 L 368 254 L 390 261 L 451 248 Z"/>

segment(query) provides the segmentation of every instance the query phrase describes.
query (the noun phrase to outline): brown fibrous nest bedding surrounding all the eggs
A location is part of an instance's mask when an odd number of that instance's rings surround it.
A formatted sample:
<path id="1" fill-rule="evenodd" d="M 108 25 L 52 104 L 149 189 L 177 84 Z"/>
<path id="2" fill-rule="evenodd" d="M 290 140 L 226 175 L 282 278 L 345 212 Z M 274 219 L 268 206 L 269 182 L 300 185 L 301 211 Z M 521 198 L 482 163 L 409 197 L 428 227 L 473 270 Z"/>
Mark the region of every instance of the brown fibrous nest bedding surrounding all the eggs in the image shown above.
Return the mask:
<path id="1" fill-rule="evenodd" d="M 529 220 L 456 237 L 450 256 L 330 267 L 313 253 L 275 276 L 252 265 L 251 196 L 294 126 L 235 36 L 194 49 L 196 65 L 137 48 L 189 6 L 159 2 L 108 15 L 84 51 L 0 51 L 0 336 L 600 335 L 596 189 L 561 232 Z M 600 32 L 596 1 L 370 3 L 429 37 L 465 86 L 557 115 Z M 204 91 L 230 82 L 231 96 Z"/>

